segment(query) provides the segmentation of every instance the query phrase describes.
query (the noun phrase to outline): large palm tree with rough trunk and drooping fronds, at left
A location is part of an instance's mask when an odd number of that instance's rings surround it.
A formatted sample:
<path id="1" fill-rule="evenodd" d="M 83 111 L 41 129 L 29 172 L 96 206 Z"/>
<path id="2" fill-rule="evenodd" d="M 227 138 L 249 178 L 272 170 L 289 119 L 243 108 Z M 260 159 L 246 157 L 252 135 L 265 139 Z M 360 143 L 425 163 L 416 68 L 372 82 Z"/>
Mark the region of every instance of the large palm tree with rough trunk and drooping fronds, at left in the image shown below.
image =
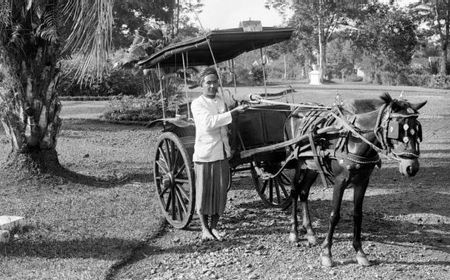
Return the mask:
<path id="1" fill-rule="evenodd" d="M 78 52 L 102 75 L 111 46 L 114 0 L 0 0 L 0 113 L 10 138 L 4 168 L 61 169 L 56 140 L 59 61 Z"/>

